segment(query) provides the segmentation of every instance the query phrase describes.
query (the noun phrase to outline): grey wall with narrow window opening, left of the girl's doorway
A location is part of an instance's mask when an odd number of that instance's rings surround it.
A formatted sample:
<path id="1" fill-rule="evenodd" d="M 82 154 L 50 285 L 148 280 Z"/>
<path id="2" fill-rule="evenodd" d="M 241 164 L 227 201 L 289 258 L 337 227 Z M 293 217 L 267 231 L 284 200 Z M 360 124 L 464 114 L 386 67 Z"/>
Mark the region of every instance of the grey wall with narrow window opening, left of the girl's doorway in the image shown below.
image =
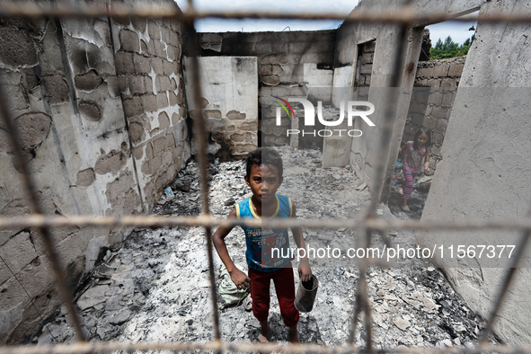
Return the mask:
<path id="1" fill-rule="evenodd" d="M 465 14 L 478 9 L 486 0 L 473 0 L 470 2 L 435 2 L 432 0 L 419 0 L 412 3 L 415 13 L 449 13 Z M 393 4 L 378 1 L 364 1 L 358 4 L 358 9 L 366 11 L 385 10 L 393 11 L 394 8 L 403 6 L 403 2 Z M 424 26 L 427 22 L 413 23 L 407 29 L 407 40 L 405 42 L 404 66 L 400 69 L 400 90 L 396 93 L 398 102 L 392 137 L 386 144 L 390 146 L 385 155 L 385 181 L 384 189 L 379 199 L 386 200 L 394 176 L 394 163 L 398 156 L 398 150 L 403 137 L 405 120 L 410 106 L 413 82 L 419 62 L 419 53 L 424 36 Z M 374 62 L 372 65 L 372 75 L 368 92 L 368 101 L 375 105 L 376 111 L 370 116 L 376 127 L 360 125 L 355 128 L 363 131 L 361 138 L 352 138 L 350 165 L 358 176 L 371 183 L 376 162 L 376 150 L 379 148 L 380 132 L 384 119 L 385 105 L 388 102 L 389 92 L 385 88 L 391 84 L 394 72 L 394 49 L 398 40 L 399 28 L 394 24 L 380 24 L 367 22 L 344 22 L 337 31 L 335 68 L 333 77 L 332 102 L 337 107 L 340 101 L 349 100 L 344 97 L 344 87 L 354 87 L 354 77 L 358 61 L 358 47 L 360 44 L 376 40 Z M 391 49 L 391 50 L 390 50 Z"/>

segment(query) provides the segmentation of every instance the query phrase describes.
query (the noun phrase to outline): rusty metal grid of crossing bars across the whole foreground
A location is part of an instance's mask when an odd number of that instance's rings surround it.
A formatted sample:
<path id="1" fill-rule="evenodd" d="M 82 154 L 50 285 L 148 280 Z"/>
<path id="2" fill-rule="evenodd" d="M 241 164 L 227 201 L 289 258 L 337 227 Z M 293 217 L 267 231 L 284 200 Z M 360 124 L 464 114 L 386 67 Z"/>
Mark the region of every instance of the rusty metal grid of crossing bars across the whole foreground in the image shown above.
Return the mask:
<path id="1" fill-rule="evenodd" d="M 411 1 L 408 2 L 411 4 Z M 359 10 L 359 9 L 358 9 Z M 463 13 L 462 13 L 463 14 Z M 0 16 L 4 17 L 22 17 L 22 18 L 39 18 L 39 17 L 153 17 L 153 18 L 176 18 L 183 22 L 189 31 L 187 38 L 188 49 L 190 50 L 191 58 L 191 73 L 192 79 L 197 84 L 194 85 L 194 92 L 192 96 L 197 106 L 200 106 L 201 88 L 199 85 L 199 61 L 198 55 L 200 51 L 199 37 L 194 29 L 194 22 L 198 19 L 217 17 L 217 18 L 270 18 L 270 19 L 303 19 L 303 20 L 323 20 L 336 19 L 345 20 L 348 22 L 386 22 L 393 23 L 397 28 L 396 44 L 394 48 L 394 70 L 390 81 L 390 87 L 400 86 L 400 72 L 403 67 L 403 60 L 405 58 L 405 42 L 407 30 L 410 26 L 415 24 L 428 24 L 444 21 L 481 21 L 481 22 L 531 22 L 531 13 L 518 14 L 503 14 L 494 13 L 489 15 L 469 15 L 465 14 L 461 17 L 456 15 L 449 15 L 447 13 L 430 13 L 418 14 L 415 13 L 411 5 L 404 5 L 402 9 L 395 10 L 390 13 L 388 11 L 357 11 L 345 16 L 339 13 L 234 13 L 234 12 L 198 12 L 194 9 L 192 0 L 189 0 L 189 7 L 186 12 L 181 10 L 173 4 L 137 4 L 134 6 L 126 6 L 124 4 L 112 3 L 91 3 L 91 4 L 37 4 L 26 2 L 6 2 L 0 5 Z M 207 155 L 207 130 L 205 118 L 199 115 L 193 118 L 193 125 L 197 136 L 199 137 L 199 172 L 200 172 L 200 186 L 201 186 L 201 203 L 203 208 L 203 215 L 199 217 L 146 217 L 146 216 L 130 216 L 130 217 L 95 217 L 95 216 L 71 216 L 71 217 L 48 217 L 43 216 L 39 201 L 36 198 L 36 190 L 31 173 L 29 173 L 27 166 L 23 164 L 21 140 L 17 135 L 13 126 L 13 117 L 11 111 L 7 109 L 7 96 L 4 93 L 2 85 L 0 84 L 0 114 L 4 121 L 5 127 L 11 139 L 13 146 L 14 161 L 18 164 L 19 171 L 22 172 L 22 180 L 30 193 L 31 206 L 33 213 L 29 217 L 0 217 L 0 229 L 7 229 L 13 226 L 23 227 L 38 227 L 40 234 L 43 237 L 49 259 L 52 263 L 55 277 L 58 281 L 58 288 L 63 301 L 68 307 L 72 322 L 74 323 L 75 332 L 78 341 L 75 344 L 59 344 L 56 346 L 4 346 L 0 347 L 0 354 L 40 354 L 40 353 L 93 353 L 111 352 L 116 350 L 208 350 L 208 351 L 260 351 L 260 352 L 284 352 L 284 353 L 354 353 L 354 352 L 376 352 L 376 348 L 372 342 L 372 319 L 370 311 L 370 303 L 367 296 L 367 267 L 370 265 L 385 265 L 377 264 L 376 261 L 370 258 L 360 259 L 358 262 L 359 278 L 356 306 L 354 314 L 352 315 L 352 323 L 350 326 L 350 336 L 348 345 L 346 346 L 318 346 L 314 344 L 289 344 L 279 346 L 274 343 L 226 343 L 221 340 L 219 331 L 219 320 L 217 311 L 217 291 L 214 276 L 213 266 L 213 250 L 212 250 L 212 227 L 213 226 L 268 226 L 268 227 L 293 227 L 306 226 L 311 228 L 329 228 L 339 229 L 341 227 L 356 230 L 359 235 L 359 246 L 365 247 L 371 243 L 373 233 L 377 232 L 384 235 L 386 240 L 386 232 L 391 229 L 400 230 L 492 230 L 492 229 L 506 229 L 521 231 L 523 233 L 516 257 L 513 259 L 507 275 L 503 279 L 503 286 L 500 288 L 499 296 L 491 310 L 491 316 L 487 322 L 487 328 L 480 339 L 479 346 L 473 349 L 462 348 L 447 348 L 440 350 L 437 348 L 410 348 L 408 350 L 377 350 L 378 352 L 527 352 L 531 353 L 531 346 L 511 347 L 511 346 L 497 346 L 491 347 L 488 343 L 487 336 L 492 331 L 492 325 L 497 316 L 500 305 L 502 305 L 507 294 L 509 285 L 514 278 L 516 270 L 518 270 L 518 263 L 523 256 L 523 252 L 527 247 L 529 235 L 531 235 L 531 217 L 509 221 L 509 220 L 465 220 L 456 222 L 420 222 L 412 220 L 394 220 L 385 221 L 376 216 L 376 208 L 378 204 L 378 196 L 384 188 L 383 181 L 385 178 L 385 159 L 384 156 L 388 154 L 390 146 L 387 144 L 393 129 L 394 115 L 396 113 L 396 102 L 398 100 L 397 93 L 392 93 L 392 96 L 387 100 L 385 106 L 384 122 L 382 127 L 382 134 L 378 151 L 376 152 L 376 166 L 373 176 L 375 181 L 372 192 L 372 199 L 370 207 L 358 213 L 358 217 L 353 221 L 340 220 L 218 220 L 210 217 L 208 206 L 208 155 Z M 210 278 L 211 300 L 213 305 L 213 322 L 215 341 L 208 343 L 189 343 L 189 342 L 165 342 L 165 343 L 119 343 L 119 342 L 86 342 L 84 333 L 81 330 L 79 318 L 75 313 L 75 306 L 73 302 L 72 293 L 66 283 L 66 277 L 63 275 L 64 270 L 61 269 L 58 261 L 59 254 L 56 245 L 53 243 L 51 237 L 51 230 L 54 227 L 64 226 L 203 226 L 206 231 L 207 247 L 208 247 L 208 269 Z M 386 241 L 387 242 L 387 241 Z M 367 331 L 367 340 L 364 347 L 356 347 L 353 344 L 354 334 L 357 331 L 358 315 L 361 312 L 365 315 L 365 325 Z"/>

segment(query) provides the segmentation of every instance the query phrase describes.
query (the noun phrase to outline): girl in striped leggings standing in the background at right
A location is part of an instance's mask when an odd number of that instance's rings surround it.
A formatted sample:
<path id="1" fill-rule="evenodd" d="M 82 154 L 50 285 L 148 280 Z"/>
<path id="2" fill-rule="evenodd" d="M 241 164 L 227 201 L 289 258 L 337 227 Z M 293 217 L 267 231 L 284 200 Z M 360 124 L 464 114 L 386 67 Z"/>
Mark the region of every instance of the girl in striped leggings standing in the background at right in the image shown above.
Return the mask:
<path id="1" fill-rule="evenodd" d="M 429 128 L 420 128 L 413 141 L 408 141 L 400 148 L 403 152 L 403 188 L 400 193 L 403 195 L 402 209 L 410 211 L 408 199 L 410 199 L 413 190 L 415 176 L 420 173 L 422 163 L 424 171 L 429 173 L 429 148 L 431 147 L 431 130 Z"/>

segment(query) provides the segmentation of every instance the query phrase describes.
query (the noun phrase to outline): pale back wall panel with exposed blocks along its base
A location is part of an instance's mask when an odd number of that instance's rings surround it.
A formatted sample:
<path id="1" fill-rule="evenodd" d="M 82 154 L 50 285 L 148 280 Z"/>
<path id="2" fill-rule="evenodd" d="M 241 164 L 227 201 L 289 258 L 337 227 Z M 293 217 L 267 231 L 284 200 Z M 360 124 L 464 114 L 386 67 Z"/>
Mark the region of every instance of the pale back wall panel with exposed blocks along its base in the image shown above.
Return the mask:
<path id="1" fill-rule="evenodd" d="M 196 84 L 184 58 L 190 116 L 203 111 L 209 131 L 208 153 L 243 158 L 258 147 L 258 75 L 254 57 L 199 58 L 201 107 L 193 99 Z M 197 141 L 192 141 L 193 150 Z"/>

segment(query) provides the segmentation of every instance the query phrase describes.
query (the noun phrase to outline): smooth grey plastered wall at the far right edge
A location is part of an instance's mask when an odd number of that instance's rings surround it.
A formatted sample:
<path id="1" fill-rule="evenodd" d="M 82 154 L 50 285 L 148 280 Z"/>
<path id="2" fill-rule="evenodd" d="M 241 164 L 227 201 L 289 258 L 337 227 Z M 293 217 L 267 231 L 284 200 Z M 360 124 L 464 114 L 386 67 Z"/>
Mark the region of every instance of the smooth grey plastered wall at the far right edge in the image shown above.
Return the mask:
<path id="1" fill-rule="evenodd" d="M 480 15 L 529 13 L 530 4 L 487 2 Z M 531 123 L 529 75 L 531 49 L 527 23 L 479 22 L 441 149 L 442 161 L 431 184 L 422 221 L 523 219 L 531 200 Z M 421 233 L 418 242 L 432 247 L 450 244 L 509 245 L 518 249 L 519 233 L 507 230 Z M 480 250 L 476 247 L 476 250 Z M 497 248 L 497 251 L 500 248 Z M 517 250 L 515 249 L 516 254 Z M 529 250 L 524 254 L 529 254 Z M 509 271 L 508 253 L 463 258 L 440 257 L 447 279 L 473 310 L 491 313 Z M 511 259 L 511 260 L 512 260 Z M 531 341 L 529 258 L 524 256 L 494 325 L 509 343 Z"/>

